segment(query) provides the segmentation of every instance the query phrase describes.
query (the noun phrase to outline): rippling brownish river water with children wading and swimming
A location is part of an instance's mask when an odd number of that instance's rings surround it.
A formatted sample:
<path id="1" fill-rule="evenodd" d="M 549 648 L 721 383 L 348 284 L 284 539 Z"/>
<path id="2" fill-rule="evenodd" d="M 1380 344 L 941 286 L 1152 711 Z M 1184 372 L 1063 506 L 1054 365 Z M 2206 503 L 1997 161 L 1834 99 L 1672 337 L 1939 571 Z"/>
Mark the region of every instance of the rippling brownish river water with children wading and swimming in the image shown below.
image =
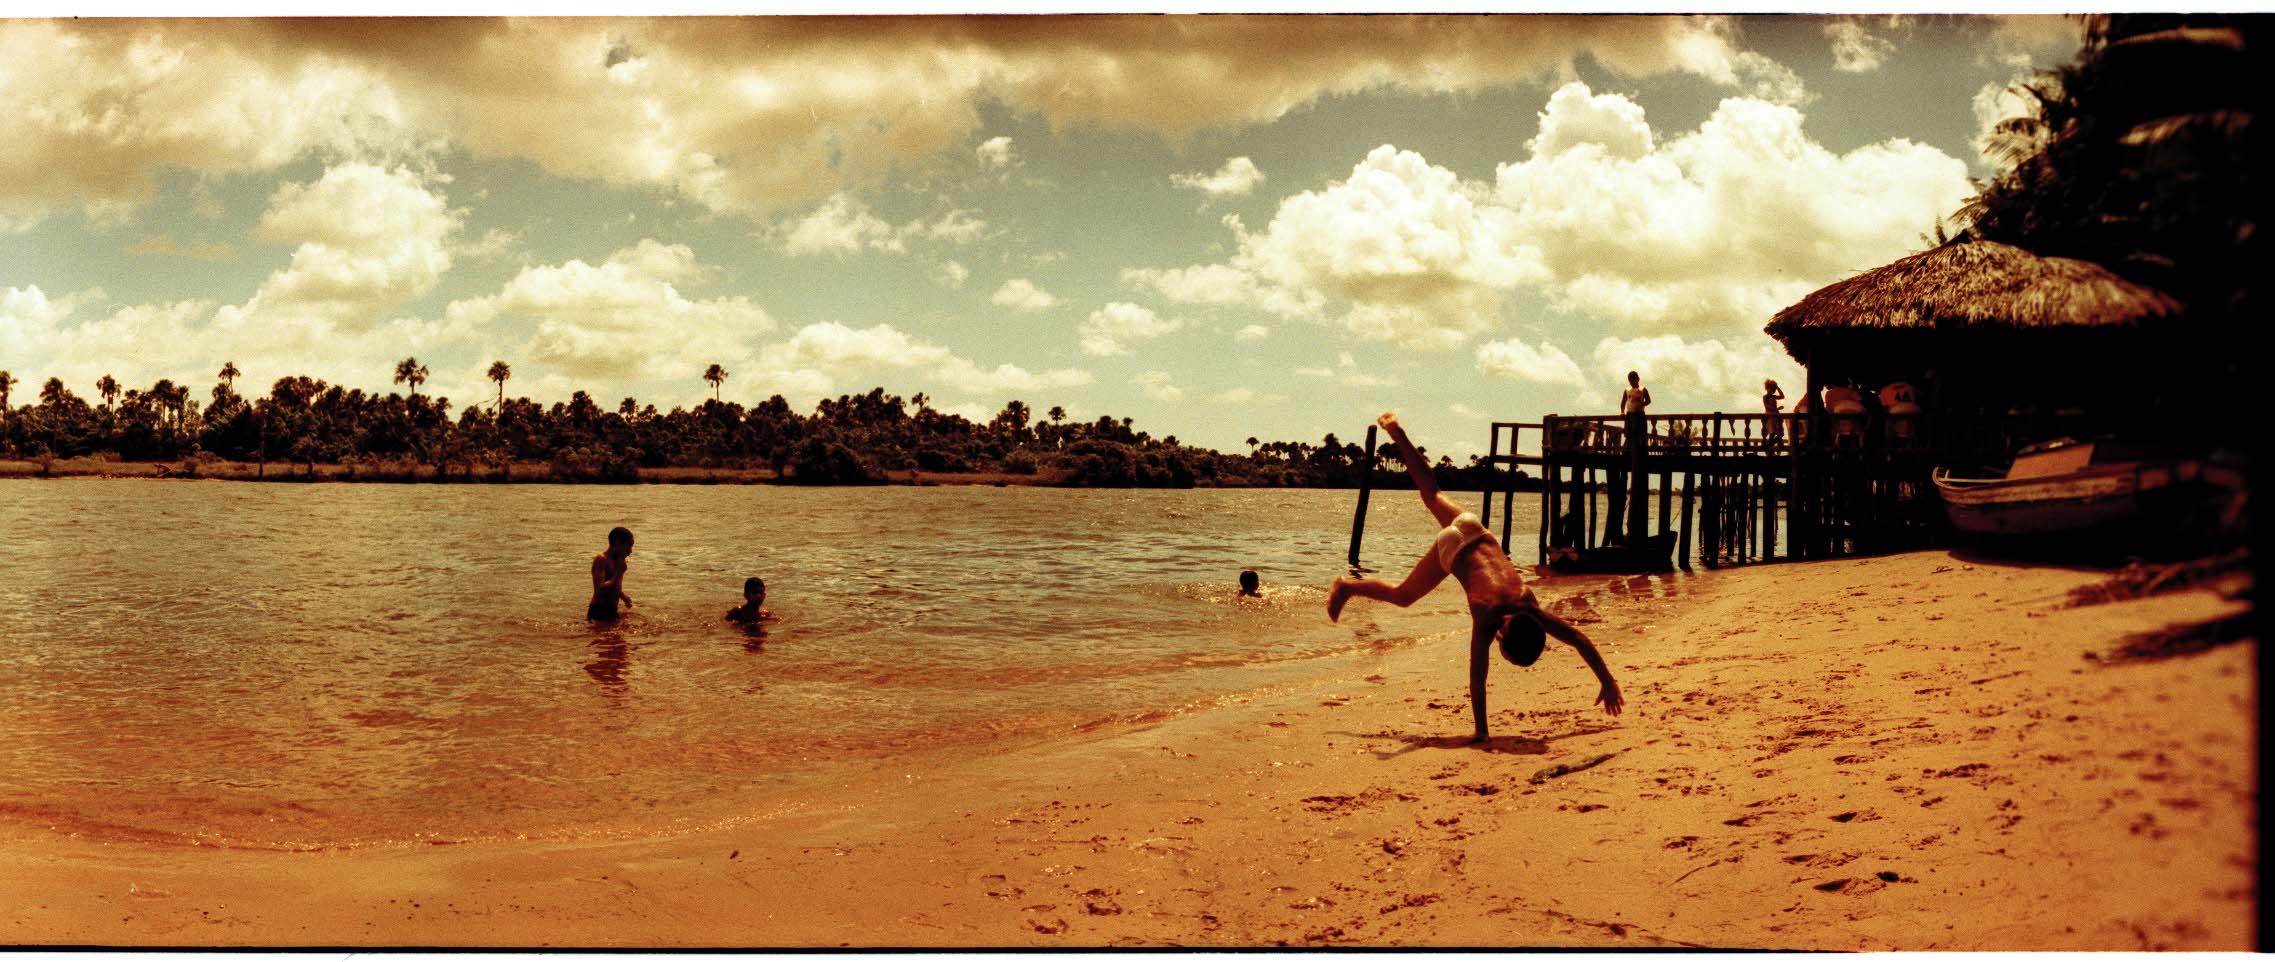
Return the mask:
<path id="1" fill-rule="evenodd" d="M 0 482 L 0 821 L 264 848 L 628 837 L 1465 630 L 1322 614 L 1351 491 Z M 1517 507 L 1517 557 L 1531 544 Z M 582 621 L 612 525 L 619 628 Z M 1433 534 L 1374 498 L 1365 559 Z M 1267 598 L 1235 603 L 1242 566 Z M 762 575 L 764 639 L 721 621 Z"/>

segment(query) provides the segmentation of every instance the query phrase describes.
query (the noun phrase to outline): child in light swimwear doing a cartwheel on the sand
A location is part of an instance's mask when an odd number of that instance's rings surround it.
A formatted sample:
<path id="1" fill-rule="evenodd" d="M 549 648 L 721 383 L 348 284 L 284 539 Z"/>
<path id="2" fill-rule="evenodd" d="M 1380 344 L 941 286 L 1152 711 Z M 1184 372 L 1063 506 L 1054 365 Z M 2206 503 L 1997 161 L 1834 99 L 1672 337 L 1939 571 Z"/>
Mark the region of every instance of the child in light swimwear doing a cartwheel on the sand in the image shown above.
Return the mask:
<path id="1" fill-rule="evenodd" d="M 1620 714 L 1620 682 L 1611 678 L 1611 669 L 1604 666 L 1604 655 L 1595 650 L 1595 644 L 1579 628 L 1572 628 L 1572 623 L 1540 609 L 1540 600 L 1524 587 L 1515 562 L 1502 550 L 1502 541 L 1486 530 L 1474 512 L 1463 509 L 1438 489 L 1429 462 L 1406 439 L 1406 428 L 1399 425 L 1397 414 L 1383 414 L 1376 423 L 1399 446 L 1399 459 L 1406 462 L 1406 473 L 1415 480 L 1415 494 L 1422 496 L 1422 505 L 1445 528 L 1431 541 L 1429 550 L 1422 553 L 1422 559 L 1415 562 L 1413 573 L 1399 584 L 1379 578 L 1335 578 L 1335 584 L 1326 591 L 1326 619 L 1340 621 L 1342 605 L 1351 596 L 1408 607 L 1422 600 L 1447 575 L 1454 575 L 1470 596 L 1470 714 L 1476 719 L 1472 744 L 1486 741 L 1486 669 L 1492 664 L 1495 641 L 1502 646 L 1502 657 L 1527 666 L 1540 660 L 1547 637 L 1554 635 L 1558 641 L 1572 646 L 1572 650 L 1579 650 L 1579 657 L 1595 671 L 1597 682 L 1602 682 L 1595 703 L 1604 705 L 1606 714 Z"/>

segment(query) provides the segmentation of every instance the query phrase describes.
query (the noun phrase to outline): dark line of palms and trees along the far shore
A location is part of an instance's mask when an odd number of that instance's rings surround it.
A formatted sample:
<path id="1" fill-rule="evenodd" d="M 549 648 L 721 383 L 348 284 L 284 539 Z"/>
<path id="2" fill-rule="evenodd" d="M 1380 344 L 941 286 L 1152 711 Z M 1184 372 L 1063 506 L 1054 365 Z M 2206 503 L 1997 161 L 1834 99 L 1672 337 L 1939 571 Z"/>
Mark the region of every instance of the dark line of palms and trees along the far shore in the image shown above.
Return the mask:
<path id="1" fill-rule="evenodd" d="M 512 366 L 496 362 L 496 396 L 457 407 L 421 393 L 425 364 L 405 357 L 394 368 L 407 393 L 366 393 L 316 378 L 278 378 L 266 393 L 239 393 L 237 364 L 223 364 L 200 403 L 189 384 L 159 380 L 146 389 L 105 375 L 96 398 L 75 396 L 48 378 L 30 403 L 25 384 L 0 371 L 0 457 L 127 462 L 318 464 L 348 473 L 416 471 L 439 480 L 576 480 L 630 482 L 642 468 L 748 468 L 801 484 L 874 484 L 924 473 L 1031 475 L 1083 487 L 1349 487 L 1365 448 L 1322 437 L 1308 441 L 1247 439 L 1249 450 L 1217 453 L 1153 437 L 1131 418 L 1069 421 L 1065 407 L 1037 416 L 1026 403 L 1003 405 L 985 423 L 940 412 L 930 398 L 901 398 L 883 387 L 824 398 L 799 414 L 783 396 L 753 407 L 719 400 L 728 373 L 712 364 L 703 380 L 712 398 L 660 412 L 637 398 L 603 407 L 576 391 L 566 403 L 507 398 Z M 1392 448 L 1381 446 L 1379 455 Z M 1397 462 L 1379 464 L 1392 482 Z M 282 471 L 282 468 L 280 468 Z M 1476 457 L 1456 468 L 1440 457 L 1449 487 L 1481 482 Z"/>

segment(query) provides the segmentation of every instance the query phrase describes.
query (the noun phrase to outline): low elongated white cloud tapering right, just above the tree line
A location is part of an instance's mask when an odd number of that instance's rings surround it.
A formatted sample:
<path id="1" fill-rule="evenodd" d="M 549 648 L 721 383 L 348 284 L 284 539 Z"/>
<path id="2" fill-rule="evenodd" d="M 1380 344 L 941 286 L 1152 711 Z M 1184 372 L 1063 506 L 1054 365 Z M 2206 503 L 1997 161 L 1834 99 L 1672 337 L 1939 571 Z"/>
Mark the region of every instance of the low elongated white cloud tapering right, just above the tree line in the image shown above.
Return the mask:
<path id="1" fill-rule="evenodd" d="M 983 368 L 892 325 L 849 327 L 835 321 L 810 323 L 787 341 L 760 348 L 755 364 L 755 391 L 803 396 L 830 393 L 839 380 L 876 371 L 919 371 L 937 384 L 981 396 L 1076 387 L 1092 380 L 1078 368 L 1042 373 L 1015 364 Z"/>

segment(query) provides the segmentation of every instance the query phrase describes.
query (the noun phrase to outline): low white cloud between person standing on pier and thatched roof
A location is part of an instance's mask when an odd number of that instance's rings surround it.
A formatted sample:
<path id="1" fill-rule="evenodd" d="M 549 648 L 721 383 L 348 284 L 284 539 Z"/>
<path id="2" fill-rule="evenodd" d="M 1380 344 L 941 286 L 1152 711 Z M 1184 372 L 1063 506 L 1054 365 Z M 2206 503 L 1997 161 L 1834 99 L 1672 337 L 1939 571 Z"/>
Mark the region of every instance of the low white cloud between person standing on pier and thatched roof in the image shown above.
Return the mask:
<path id="1" fill-rule="evenodd" d="M 1720 339 L 1686 341 L 1677 334 L 1620 339 L 1595 346 L 1595 366 L 1606 382 L 1627 384 L 1627 373 L 1643 375 L 1658 409 L 1761 409 L 1761 382 L 1793 387 L 1804 382 L 1802 366 L 1765 334 L 1749 334 L 1729 346 Z M 1788 403 L 1790 409 L 1790 403 Z"/>

